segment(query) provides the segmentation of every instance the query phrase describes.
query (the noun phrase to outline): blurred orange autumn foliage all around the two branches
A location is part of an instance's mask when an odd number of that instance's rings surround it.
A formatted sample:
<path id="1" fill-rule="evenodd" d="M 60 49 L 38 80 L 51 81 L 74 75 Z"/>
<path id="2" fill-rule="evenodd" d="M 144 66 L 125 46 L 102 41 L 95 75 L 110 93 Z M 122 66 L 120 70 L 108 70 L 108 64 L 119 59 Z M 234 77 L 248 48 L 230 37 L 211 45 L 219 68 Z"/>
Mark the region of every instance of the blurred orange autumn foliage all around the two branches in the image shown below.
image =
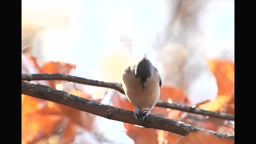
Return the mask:
<path id="1" fill-rule="evenodd" d="M 234 114 L 234 63 L 224 60 L 207 59 L 210 72 L 216 77 L 218 84 L 218 96 L 215 100 L 201 102 L 198 108 L 214 112 L 226 112 Z M 36 64 L 36 59 L 22 53 L 22 73 L 62 73 L 69 74 L 76 66 L 62 62 L 46 62 L 42 66 Z M 65 85 L 68 82 L 61 80 L 53 81 L 31 81 L 55 88 L 56 84 Z M 76 96 L 94 100 L 90 94 L 77 90 L 75 87 L 68 91 Z M 57 104 L 41 100 L 32 96 L 21 95 L 22 97 L 22 144 L 57 143 L 70 144 L 74 142 L 79 132 L 86 132 L 86 138 L 93 135 L 94 115 Z M 191 105 L 186 93 L 179 88 L 162 85 L 160 100 L 167 102 Z M 100 100 L 98 100 L 100 101 Z M 134 110 L 121 94 L 116 94 L 113 99 L 113 106 L 126 110 Z M 213 130 L 225 134 L 234 135 L 234 126 L 228 120 L 209 118 L 173 110 L 168 108 L 155 107 L 151 114 L 164 118 L 181 120 L 207 130 Z M 127 135 L 134 140 L 135 144 L 234 144 L 234 140 L 217 138 L 207 132 L 193 132 L 181 136 L 154 128 L 141 128 L 133 124 L 123 123 Z M 97 140 L 92 138 L 91 140 Z M 100 142 L 95 142 L 100 143 Z"/>

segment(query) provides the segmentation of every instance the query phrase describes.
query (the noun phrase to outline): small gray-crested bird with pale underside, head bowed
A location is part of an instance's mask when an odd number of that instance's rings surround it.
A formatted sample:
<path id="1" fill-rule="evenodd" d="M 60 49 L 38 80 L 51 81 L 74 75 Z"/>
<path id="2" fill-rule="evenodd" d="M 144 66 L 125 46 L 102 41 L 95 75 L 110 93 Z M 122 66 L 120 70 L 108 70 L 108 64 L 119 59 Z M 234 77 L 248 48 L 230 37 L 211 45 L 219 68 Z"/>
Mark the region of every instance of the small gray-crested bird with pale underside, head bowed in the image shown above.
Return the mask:
<path id="1" fill-rule="evenodd" d="M 150 114 L 160 97 L 162 85 L 158 70 L 151 64 L 146 55 L 133 66 L 129 66 L 122 76 L 122 87 L 127 99 L 136 108 L 134 119 L 137 115 L 145 114 L 144 119 Z"/>

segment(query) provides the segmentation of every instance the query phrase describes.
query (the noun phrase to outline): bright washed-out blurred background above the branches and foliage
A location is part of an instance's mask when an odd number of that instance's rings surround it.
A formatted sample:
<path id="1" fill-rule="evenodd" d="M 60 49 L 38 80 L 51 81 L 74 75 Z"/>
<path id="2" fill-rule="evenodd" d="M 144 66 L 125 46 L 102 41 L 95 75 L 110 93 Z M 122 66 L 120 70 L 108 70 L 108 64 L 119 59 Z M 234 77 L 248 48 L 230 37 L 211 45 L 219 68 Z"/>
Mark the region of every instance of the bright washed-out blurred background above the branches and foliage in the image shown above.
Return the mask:
<path id="1" fill-rule="evenodd" d="M 162 83 L 196 104 L 218 92 L 206 58 L 234 62 L 234 0 L 22 0 L 28 45 L 39 65 L 76 64 L 74 76 L 114 82 L 146 54 Z"/>

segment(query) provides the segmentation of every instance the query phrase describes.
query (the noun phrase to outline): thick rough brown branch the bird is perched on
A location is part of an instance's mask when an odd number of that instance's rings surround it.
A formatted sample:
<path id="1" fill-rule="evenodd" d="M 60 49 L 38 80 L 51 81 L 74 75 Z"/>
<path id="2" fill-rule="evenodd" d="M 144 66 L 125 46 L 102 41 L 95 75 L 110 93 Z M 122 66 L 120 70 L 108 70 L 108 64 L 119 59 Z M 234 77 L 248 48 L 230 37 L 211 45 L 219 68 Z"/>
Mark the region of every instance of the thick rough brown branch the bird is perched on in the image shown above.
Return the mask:
<path id="1" fill-rule="evenodd" d="M 35 85 L 35 84 L 30 84 L 28 82 L 22 81 L 21 87 L 22 87 L 22 94 L 26 94 L 28 96 L 33 96 L 33 97 L 44 99 L 44 100 L 49 100 L 52 102 L 57 102 L 59 104 L 70 106 L 72 108 L 82 110 L 84 112 L 89 112 L 91 114 L 102 116 L 104 118 L 108 118 L 111 120 L 118 120 L 121 122 L 130 123 L 130 124 L 137 124 L 140 126 L 144 126 L 146 128 L 155 128 L 155 129 L 165 130 L 168 132 L 180 134 L 182 136 L 185 136 L 190 132 L 202 130 L 202 131 L 210 132 L 217 137 L 230 138 L 234 140 L 234 136 L 230 134 L 213 132 L 210 130 L 205 130 L 195 126 L 191 126 L 181 121 L 162 118 L 154 115 L 149 115 L 149 117 L 146 118 L 144 120 L 144 123 L 142 124 L 143 116 L 138 116 L 138 120 L 136 121 L 134 120 L 132 111 L 116 108 L 113 106 L 108 106 L 92 100 L 87 100 L 85 98 L 74 96 L 67 92 L 54 90 L 48 86 L 44 86 L 40 84 Z"/>

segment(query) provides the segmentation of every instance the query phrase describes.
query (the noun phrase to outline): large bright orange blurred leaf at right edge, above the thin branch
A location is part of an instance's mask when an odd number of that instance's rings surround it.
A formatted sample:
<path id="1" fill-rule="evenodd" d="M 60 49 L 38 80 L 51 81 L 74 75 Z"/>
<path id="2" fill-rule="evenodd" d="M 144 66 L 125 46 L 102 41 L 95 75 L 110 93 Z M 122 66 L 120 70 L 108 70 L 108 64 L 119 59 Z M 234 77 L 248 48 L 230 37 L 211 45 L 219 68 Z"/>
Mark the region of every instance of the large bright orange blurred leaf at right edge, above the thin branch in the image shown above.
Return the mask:
<path id="1" fill-rule="evenodd" d="M 204 110 L 220 111 L 228 106 L 228 112 L 234 113 L 234 110 L 230 110 L 234 106 L 234 63 L 216 59 L 208 59 L 207 62 L 217 80 L 218 97 L 215 100 L 198 104 L 198 107 Z M 226 111 L 222 110 L 222 112 Z"/>

